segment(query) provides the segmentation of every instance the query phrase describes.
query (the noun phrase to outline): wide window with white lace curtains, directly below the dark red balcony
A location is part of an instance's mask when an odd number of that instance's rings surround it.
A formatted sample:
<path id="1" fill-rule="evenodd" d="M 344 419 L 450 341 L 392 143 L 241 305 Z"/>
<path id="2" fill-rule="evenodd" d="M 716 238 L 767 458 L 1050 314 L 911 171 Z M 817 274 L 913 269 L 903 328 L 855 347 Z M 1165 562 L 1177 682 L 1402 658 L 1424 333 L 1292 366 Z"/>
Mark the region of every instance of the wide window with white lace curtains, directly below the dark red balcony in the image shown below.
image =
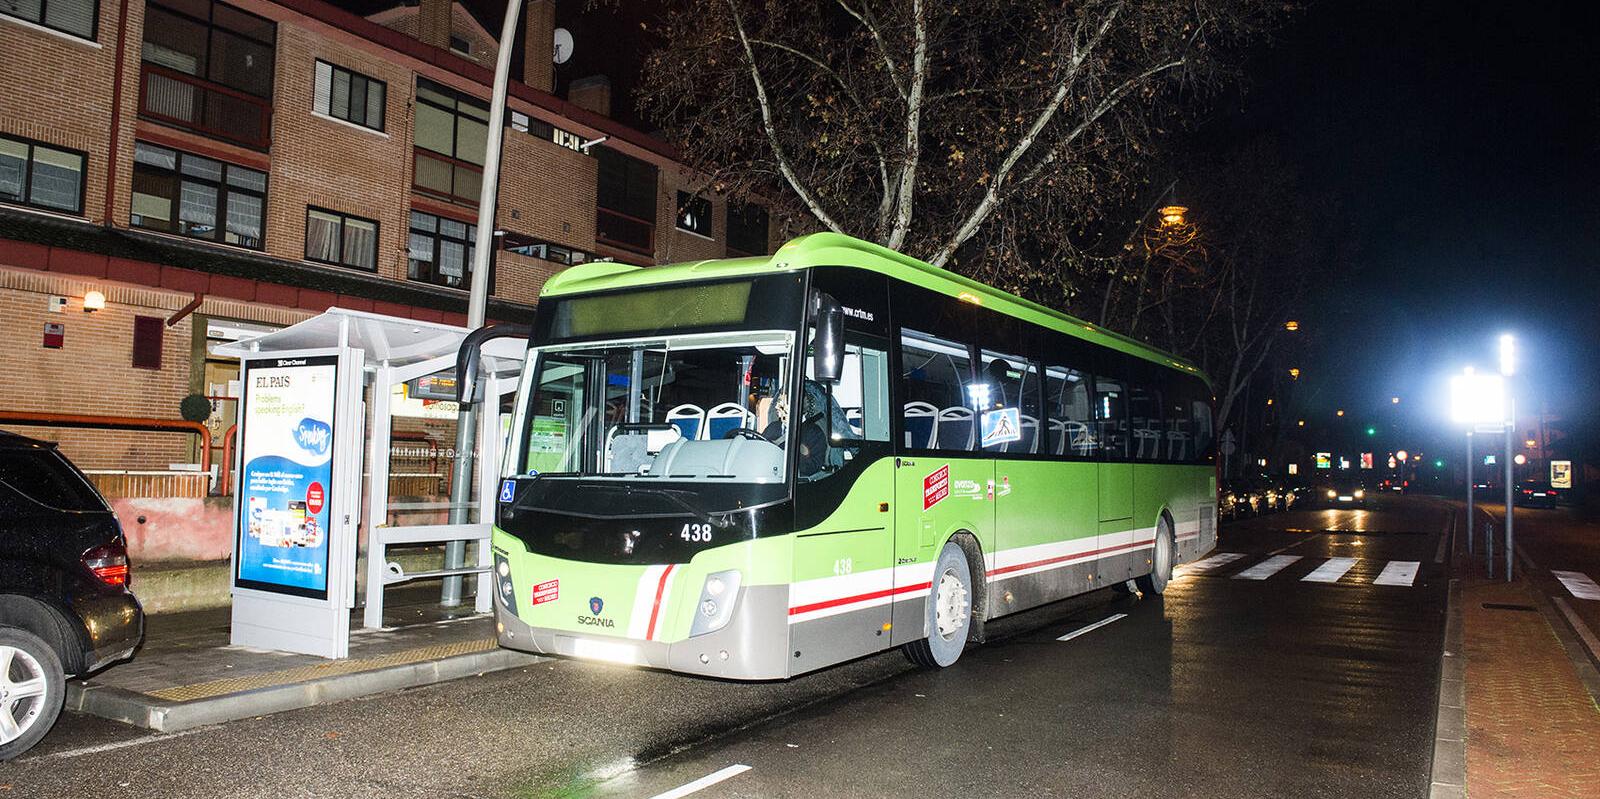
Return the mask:
<path id="1" fill-rule="evenodd" d="M 133 146 L 134 227 L 261 250 L 267 173 L 189 152 Z"/>

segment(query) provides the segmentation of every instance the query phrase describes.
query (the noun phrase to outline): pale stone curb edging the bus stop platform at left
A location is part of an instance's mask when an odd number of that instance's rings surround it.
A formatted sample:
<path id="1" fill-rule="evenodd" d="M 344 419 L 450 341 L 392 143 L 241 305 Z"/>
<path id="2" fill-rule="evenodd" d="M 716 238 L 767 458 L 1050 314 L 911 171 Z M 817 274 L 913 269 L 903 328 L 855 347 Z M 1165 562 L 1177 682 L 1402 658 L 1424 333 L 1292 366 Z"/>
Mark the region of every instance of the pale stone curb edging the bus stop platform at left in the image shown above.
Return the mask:
<path id="1" fill-rule="evenodd" d="M 490 671 L 514 669 L 541 660 L 546 658 L 493 648 L 456 655 L 453 658 L 406 663 L 355 674 L 336 674 L 192 701 L 160 700 L 125 689 L 96 685 L 93 681 L 72 681 L 67 684 L 66 706 L 70 711 L 120 721 L 155 732 L 179 732 L 394 690 L 416 689 Z"/>

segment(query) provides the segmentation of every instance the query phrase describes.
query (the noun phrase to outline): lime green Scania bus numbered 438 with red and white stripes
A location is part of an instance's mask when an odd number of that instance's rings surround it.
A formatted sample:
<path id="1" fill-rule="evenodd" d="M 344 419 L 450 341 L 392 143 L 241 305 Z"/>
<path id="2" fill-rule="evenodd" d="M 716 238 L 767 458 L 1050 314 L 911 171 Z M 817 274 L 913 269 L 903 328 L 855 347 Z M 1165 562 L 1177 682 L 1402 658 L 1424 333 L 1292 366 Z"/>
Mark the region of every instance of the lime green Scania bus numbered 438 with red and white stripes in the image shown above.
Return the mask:
<path id="1" fill-rule="evenodd" d="M 499 644 L 728 679 L 984 623 L 1216 544 L 1194 365 L 837 234 L 546 283 L 501 472 Z"/>

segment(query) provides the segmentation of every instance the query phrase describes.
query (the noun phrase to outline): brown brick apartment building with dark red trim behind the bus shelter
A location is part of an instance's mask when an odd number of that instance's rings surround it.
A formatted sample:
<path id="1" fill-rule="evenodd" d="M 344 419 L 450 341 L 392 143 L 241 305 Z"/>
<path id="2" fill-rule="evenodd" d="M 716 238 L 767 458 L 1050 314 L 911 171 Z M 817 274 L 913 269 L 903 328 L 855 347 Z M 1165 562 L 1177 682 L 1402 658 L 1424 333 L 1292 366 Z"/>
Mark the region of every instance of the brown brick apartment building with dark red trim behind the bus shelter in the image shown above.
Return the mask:
<path id="1" fill-rule="evenodd" d="M 610 117 L 603 77 L 552 93 L 554 29 L 530 0 L 490 317 L 526 320 L 586 259 L 771 251 L 766 211 L 696 194 Z M 330 306 L 464 323 L 494 54 L 448 0 L 0 3 L 0 408 L 174 420 L 230 392 L 226 339 Z M 232 405 L 213 407 L 221 434 Z M 173 434 L 11 429 L 88 469 L 197 456 Z"/>

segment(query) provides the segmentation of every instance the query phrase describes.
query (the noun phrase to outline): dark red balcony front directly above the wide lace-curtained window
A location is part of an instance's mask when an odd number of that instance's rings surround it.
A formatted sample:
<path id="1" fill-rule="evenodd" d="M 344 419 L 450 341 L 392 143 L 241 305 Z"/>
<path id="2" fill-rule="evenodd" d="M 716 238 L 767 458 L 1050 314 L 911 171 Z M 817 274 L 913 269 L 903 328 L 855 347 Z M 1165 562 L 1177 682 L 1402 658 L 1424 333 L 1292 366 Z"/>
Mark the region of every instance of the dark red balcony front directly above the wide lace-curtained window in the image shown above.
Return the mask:
<path id="1" fill-rule="evenodd" d="M 258 151 L 272 146 L 272 102 L 150 62 L 139 70 L 139 115 Z"/>

